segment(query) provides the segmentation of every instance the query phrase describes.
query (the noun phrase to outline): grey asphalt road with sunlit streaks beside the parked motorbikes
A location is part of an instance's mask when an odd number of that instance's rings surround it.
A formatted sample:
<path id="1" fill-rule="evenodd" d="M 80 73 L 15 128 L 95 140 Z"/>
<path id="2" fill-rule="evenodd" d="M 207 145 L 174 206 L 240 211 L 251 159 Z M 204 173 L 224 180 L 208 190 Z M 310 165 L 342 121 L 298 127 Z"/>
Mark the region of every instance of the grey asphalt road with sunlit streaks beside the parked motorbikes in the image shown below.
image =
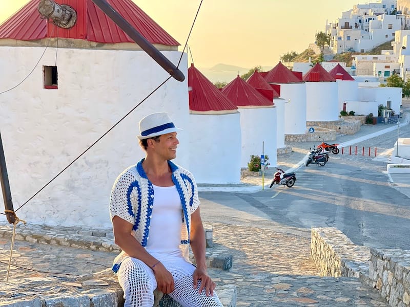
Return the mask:
<path id="1" fill-rule="evenodd" d="M 410 137 L 410 125 L 400 129 Z M 397 131 L 358 144 L 391 151 Z M 367 152 L 367 149 L 366 149 Z M 331 155 L 324 167 L 297 169 L 293 188 L 255 193 L 200 192 L 204 221 L 282 229 L 310 236 L 336 227 L 355 244 L 410 250 L 410 199 L 388 183 L 386 157 Z"/>

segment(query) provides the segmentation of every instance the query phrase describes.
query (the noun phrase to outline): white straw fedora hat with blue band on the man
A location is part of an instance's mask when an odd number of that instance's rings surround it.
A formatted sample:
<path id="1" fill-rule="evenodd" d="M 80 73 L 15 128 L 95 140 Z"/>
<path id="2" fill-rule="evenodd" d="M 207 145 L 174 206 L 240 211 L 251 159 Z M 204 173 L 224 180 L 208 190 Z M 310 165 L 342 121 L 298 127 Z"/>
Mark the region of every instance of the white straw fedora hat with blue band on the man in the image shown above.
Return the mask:
<path id="1" fill-rule="evenodd" d="M 144 140 L 181 130 L 175 127 L 167 112 L 152 113 L 139 121 L 139 136 L 137 138 Z"/>

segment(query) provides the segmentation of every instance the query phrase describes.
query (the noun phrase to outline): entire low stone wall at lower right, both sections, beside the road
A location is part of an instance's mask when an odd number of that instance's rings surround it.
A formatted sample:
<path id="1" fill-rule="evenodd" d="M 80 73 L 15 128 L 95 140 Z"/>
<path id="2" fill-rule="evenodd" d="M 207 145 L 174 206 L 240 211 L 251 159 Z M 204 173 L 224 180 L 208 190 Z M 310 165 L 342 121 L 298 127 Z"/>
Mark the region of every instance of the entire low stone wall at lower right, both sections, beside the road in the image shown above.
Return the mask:
<path id="1" fill-rule="evenodd" d="M 368 249 L 334 227 L 312 228 L 311 258 L 323 276 L 357 277 L 392 307 L 410 307 L 410 250 Z"/>

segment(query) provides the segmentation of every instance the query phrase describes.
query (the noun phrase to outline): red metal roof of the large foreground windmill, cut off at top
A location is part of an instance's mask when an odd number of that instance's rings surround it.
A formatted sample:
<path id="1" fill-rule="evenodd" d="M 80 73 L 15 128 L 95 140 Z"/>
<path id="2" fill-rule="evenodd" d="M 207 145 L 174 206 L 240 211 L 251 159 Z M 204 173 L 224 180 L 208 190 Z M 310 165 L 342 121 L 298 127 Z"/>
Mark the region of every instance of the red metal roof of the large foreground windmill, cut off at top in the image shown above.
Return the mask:
<path id="1" fill-rule="evenodd" d="M 77 12 L 77 22 L 70 29 L 57 28 L 37 11 L 38 0 L 31 0 L 0 25 L 0 39 L 37 40 L 46 37 L 85 39 L 102 43 L 134 42 L 91 0 L 55 0 Z M 180 44 L 131 0 L 107 0 L 142 36 L 151 43 L 166 46 Z M 58 29 L 58 30 L 56 30 Z"/>

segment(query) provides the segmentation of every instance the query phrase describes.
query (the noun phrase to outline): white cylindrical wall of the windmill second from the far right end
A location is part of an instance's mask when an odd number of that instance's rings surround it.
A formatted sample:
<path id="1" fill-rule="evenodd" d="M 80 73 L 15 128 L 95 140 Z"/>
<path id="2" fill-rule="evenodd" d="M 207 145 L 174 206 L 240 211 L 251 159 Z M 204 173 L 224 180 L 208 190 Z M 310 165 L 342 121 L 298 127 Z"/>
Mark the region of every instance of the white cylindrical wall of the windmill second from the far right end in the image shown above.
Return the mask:
<path id="1" fill-rule="evenodd" d="M 337 82 L 306 82 L 306 121 L 339 119 Z"/>

